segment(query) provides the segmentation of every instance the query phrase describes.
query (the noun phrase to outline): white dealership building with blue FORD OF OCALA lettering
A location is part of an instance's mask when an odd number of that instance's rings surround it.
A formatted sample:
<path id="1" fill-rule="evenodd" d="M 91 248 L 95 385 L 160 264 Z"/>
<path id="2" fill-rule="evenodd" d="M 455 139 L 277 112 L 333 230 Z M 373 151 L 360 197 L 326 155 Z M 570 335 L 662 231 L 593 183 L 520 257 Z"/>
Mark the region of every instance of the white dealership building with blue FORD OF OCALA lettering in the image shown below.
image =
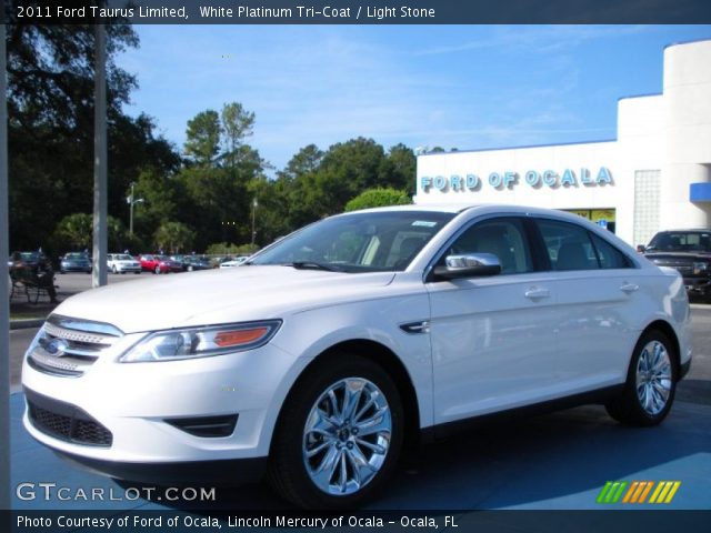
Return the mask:
<path id="1" fill-rule="evenodd" d="M 661 94 L 618 101 L 617 140 L 418 157 L 414 202 L 575 212 L 630 244 L 711 228 L 711 40 L 664 49 Z"/>

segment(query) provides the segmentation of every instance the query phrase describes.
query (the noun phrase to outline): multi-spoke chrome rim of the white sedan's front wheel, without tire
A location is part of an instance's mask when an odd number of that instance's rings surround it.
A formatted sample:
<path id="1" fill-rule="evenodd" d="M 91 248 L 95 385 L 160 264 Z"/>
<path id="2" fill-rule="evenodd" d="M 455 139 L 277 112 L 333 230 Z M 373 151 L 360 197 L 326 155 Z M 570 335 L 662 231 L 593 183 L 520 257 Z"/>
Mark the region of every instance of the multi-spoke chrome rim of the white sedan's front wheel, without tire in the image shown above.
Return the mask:
<path id="1" fill-rule="evenodd" d="M 363 378 L 346 378 L 316 401 L 303 429 L 302 456 L 322 492 L 349 495 L 382 467 L 392 433 L 388 399 Z"/>

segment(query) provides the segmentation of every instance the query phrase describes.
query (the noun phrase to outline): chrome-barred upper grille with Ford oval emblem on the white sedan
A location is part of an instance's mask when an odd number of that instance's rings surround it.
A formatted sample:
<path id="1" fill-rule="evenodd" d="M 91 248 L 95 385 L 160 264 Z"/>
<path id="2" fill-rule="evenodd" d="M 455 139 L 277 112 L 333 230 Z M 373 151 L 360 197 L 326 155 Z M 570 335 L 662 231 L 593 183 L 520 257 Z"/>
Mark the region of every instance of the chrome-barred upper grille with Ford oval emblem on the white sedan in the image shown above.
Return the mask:
<path id="1" fill-rule="evenodd" d="M 77 378 L 121 336 L 123 333 L 109 324 L 52 315 L 28 354 L 28 363 L 40 372 Z"/>

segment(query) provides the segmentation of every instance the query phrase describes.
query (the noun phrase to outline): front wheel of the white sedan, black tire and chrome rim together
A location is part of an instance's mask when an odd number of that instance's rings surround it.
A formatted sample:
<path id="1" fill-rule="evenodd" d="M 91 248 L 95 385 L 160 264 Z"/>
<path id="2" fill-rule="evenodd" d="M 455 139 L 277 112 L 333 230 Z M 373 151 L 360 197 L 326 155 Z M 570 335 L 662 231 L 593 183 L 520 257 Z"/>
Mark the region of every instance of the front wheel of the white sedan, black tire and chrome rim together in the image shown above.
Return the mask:
<path id="1" fill-rule="evenodd" d="M 364 358 L 338 358 L 298 383 L 274 433 L 270 481 L 304 509 L 362 504 L 390 477 L 402 446 L 391 378 Z"/>

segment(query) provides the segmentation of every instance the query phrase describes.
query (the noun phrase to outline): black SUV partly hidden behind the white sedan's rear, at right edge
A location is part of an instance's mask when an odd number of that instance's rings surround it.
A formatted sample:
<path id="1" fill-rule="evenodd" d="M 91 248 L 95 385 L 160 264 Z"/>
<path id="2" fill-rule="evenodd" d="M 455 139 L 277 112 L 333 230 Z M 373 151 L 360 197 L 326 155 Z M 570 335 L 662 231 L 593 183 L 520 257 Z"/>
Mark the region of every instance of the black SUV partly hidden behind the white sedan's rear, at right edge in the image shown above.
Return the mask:
<path id="1" fill-rule="evenodd" d="M 711 230 L 660 231 L 644 257 L 660 266 L 677 269 L 690 296 L 711 302 Z"/>

